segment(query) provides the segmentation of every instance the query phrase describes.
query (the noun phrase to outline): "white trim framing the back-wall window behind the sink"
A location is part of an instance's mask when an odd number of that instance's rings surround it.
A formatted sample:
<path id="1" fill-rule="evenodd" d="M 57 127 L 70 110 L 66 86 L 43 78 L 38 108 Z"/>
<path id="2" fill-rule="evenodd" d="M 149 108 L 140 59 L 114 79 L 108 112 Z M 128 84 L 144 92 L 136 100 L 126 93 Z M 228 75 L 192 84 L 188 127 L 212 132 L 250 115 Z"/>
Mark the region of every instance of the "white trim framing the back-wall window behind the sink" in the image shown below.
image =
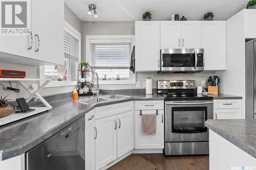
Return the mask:
<path id="1" fill-rule="evenodd" d="M 130 39 L 131 47 L 135 45 L 135 35 L 86 35 L 86 61 L 90 62 L 90 42 L 98 42 L 98 39 L 113 39 L 114 40 L 125 40 Z M 90 64 L 90 63 L 89 63 Z M 136 84 L 136 74 L 130 71 L 130 80 L 106 80 L 106 81 L 99 81 L 99 84 Z"/>

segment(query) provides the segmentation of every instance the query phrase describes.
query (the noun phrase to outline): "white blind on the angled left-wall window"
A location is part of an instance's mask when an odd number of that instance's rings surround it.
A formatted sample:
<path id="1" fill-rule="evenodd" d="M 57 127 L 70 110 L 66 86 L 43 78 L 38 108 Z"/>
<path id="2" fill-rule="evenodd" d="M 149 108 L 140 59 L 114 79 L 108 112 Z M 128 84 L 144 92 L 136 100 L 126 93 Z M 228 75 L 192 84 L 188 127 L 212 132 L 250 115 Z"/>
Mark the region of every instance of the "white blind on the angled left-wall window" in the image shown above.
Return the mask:
<path id="1" fill-rule="evenodd" d="M 79 40 L 64 32 L 64 53 L 65 58 L 78 61 L 79 58 Z"/>

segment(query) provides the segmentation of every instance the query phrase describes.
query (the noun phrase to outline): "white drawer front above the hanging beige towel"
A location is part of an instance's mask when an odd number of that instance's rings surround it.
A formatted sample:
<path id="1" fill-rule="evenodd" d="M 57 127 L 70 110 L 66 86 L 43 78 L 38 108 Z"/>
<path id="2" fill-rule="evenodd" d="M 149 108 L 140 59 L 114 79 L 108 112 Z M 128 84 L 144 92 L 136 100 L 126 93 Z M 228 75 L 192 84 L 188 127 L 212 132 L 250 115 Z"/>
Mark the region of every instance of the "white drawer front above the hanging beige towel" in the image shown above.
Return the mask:
<path id="1" fill-rule="evenodd" d="M 135 110 L 163 110 L 164 101 L 135 101 Z"/>

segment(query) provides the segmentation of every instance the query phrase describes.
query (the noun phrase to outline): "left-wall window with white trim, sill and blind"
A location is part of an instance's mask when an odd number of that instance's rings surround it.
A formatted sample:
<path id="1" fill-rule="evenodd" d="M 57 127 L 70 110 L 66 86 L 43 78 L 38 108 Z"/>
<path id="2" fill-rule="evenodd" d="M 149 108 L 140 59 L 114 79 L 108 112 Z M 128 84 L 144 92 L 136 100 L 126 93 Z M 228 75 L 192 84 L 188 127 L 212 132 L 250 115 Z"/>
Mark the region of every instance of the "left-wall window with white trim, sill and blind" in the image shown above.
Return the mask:
<path id="1" fill-rule="evenodd" d="M 40 78 L 52 79 L 47 87 L 73 86 L 77 84 L 77 69 L 81 57 L 81 35 L 65 21 L 63 53 L 64 65 L 40 66 Z"/>

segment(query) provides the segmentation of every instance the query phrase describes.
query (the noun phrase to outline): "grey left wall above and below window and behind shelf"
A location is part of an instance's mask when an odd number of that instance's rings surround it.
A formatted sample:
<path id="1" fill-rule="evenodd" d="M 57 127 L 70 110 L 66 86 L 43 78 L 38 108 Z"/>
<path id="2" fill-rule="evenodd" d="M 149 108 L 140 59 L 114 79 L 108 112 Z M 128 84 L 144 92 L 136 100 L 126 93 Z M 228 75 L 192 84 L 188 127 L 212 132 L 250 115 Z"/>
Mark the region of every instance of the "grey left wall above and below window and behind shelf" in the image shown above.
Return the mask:
<path id="1" fill-rule="evenodd" d="M 71 11 L 71 9 L 65 4 L 65 20 L 70 23 L 77 31 L 81 33 L 81 21 L 80 19 Z M 17 63 L 7 63 L 7 62 L 0 62 L 1 69 L 18 69 L 18 70 L 25 70 L 27 71 L 27 78 L 39 78 L 39 68 L 38 66 L 33 65 L 21 65 Z M 28 85 L 37 82 L 26 82 Z M 5 86 L 10 86 L 9 82 L 0 82 L 0 84 L 4 84 Z M 16 98 L 27 98 L 29 93 L 23 89 L 22 86 L 19 85 L 17 82 L 12 82 L 13 87 L 17 87 L 20 89 L 19 93 L 15 93 L 13 91 L 5 91 L 2 89 L 0 85 L 0 95 L 9 95 L 9 100 L 14 100 Z M 49 94 L 56 94 L 56 93 L 63 93 L 63 92 L 70 92 L 75 88 L 75 86 L 66 86 L 66 87 L 50 87 L 44 88 L 40 91 L 41 95 L 49 95 Z"/>

